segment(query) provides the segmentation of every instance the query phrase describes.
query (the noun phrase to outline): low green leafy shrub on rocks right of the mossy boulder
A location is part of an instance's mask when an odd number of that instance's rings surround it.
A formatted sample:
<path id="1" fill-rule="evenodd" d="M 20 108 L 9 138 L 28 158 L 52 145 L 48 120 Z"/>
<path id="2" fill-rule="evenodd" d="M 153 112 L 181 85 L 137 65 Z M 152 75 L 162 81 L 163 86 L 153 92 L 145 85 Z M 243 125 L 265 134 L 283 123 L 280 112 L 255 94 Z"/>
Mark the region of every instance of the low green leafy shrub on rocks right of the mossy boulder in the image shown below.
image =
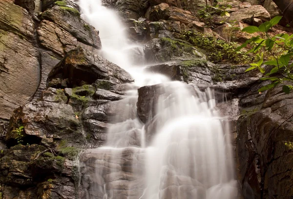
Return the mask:
<path id="1" fill-rule="evenodd" d="M 195 31 L 185 31 L 183 38 L 189 43 L 206 51 L 209 60 L 212 62 L 229 61 L 234 64 L 245 64 L 252 61 L 252 58 L 243 51 L 235 52 L 237 43 L 227 43 L 223 40 L 217 40 L 215 37 L 205 36 Z"/>

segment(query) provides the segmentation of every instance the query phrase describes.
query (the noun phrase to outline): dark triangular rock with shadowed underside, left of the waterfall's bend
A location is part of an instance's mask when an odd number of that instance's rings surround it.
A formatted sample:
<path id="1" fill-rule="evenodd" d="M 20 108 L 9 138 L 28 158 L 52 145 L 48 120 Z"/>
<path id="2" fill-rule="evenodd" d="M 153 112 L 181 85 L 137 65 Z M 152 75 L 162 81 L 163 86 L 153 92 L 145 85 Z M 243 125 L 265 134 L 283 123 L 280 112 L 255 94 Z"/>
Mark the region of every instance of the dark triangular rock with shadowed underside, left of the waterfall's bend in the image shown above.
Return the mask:
<path id="1" fill-rule="evenodd" d="M 82 46 L 69 51 L 48 75 L 48 82 L 55 78 L 68 79 L 68 86 L 92 84 L 97 79 L 113 78 L 117 83 L 131 81 L 130 75 L 119 66 L 86 50 Z M 83 83 L 84 82 L 84 83 Z"/>

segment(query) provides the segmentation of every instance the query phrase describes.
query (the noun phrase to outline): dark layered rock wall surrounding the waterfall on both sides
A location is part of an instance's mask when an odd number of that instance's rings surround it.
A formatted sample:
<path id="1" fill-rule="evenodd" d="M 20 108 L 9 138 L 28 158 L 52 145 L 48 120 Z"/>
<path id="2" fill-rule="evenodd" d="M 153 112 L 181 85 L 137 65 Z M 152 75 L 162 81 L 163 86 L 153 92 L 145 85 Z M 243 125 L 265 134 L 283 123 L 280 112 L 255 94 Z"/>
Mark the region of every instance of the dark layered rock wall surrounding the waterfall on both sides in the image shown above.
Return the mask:
<path id="1" fill-rule="evenodd" d="M 268 82 L 260 82 L 256 72 L 245 73 L 249 66 L 239 64 L 243 60 L 235 62 L 244 55 L 231 57 L 216 45 L 212 54 L 207 46 L 227 40 L 221 17 L 214 19 L 218 27 L 211 30 L 183 9 L 197 9 L 200 1 L 105 0 L 104 4 L 120 13 L 129 42 L 144 44 L 144 53 L 132 54 L 133 60 L 150 65 L 146 70 L 215 89 L 219 109 L 230 116 L 227 122 L 243 195 L 239 198 L 293 196 L 292 150 L 284 144 L 293 141 L 292 94 L 281 93 L 278 87 L 258 93 Z M 239 27 L 279 14 L 268 0 L 229 4 L 230 20 Z M 247 38 L 235 33 L 240 43 Z M 105 143 L 107 123 L 123 113 L 119 100 L 133 81 L 124 69 L 100 56 L 101 47 L 99 30 L 81 19 L 73 1 L 0 1 L 0 199 L 83 195 L 76 157 L 82 149 Z M 224 55 L 216 57 L 220 52 Z M 150 124 L 156 121 L 150 108 L 162 94 L 160 85 L 138 92 L 138 115 L 146 124 L 146 139 L 151 140 L 155 125 Z M 24 130 L 18 131 L 21 126 Z M 91 161 L 90 155 L 86 161 Z M 82 183 L 86 187 L 90 179 Z"/>

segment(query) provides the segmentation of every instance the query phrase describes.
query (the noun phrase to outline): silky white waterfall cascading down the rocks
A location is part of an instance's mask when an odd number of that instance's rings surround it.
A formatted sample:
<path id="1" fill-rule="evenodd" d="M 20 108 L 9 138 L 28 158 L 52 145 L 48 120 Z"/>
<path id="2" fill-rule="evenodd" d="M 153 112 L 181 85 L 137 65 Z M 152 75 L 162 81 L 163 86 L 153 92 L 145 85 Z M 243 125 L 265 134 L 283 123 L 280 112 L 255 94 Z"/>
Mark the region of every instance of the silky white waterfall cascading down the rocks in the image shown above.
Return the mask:
<path id="1" fill-rule="evenodd" d="M 212 91 L 147 73 L 128 57 L 125 28 L 101 0 L 80 0 L 82 17 L 100 31 L 102 56 L 135 80 L 111 118 L 105 146 L 87 150 L 87 199 L 235 199 L 236 181 L 229 131 Z M 137 89 L 161 84 L 152 141 L 137 116 Z M 135 88 L 135 89 L 131 89 Z M 147 147 L 146 147 L 147 145 Z"/>

